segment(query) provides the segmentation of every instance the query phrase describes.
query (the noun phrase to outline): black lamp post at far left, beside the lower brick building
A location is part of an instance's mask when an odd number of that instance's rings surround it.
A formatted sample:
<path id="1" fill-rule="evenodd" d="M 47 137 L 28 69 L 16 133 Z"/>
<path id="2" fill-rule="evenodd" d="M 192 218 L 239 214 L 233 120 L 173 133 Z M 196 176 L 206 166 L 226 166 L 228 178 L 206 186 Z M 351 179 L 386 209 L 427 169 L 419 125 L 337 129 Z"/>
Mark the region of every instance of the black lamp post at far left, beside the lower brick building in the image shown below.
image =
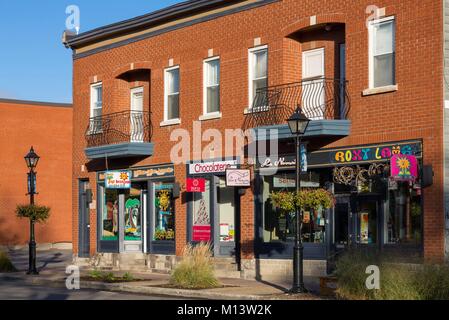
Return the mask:
<path id="1" fill-rule="evenodd" d="M 28 173 L 28 194 L 30 196 L 30 204 L 34 205 L 34 195 L 36 194 L 36 172 L 34 169 L 39 162 L 40 157 L 31 147 L 30 152 L 25 156 L 25 162 L 30 169 Z M 38 275 L 36 269 L 36 241 L 34 237 L 34 221 L 30 219 L 30 243 L 29 243 L 29 263 L 27 274 Z"/>

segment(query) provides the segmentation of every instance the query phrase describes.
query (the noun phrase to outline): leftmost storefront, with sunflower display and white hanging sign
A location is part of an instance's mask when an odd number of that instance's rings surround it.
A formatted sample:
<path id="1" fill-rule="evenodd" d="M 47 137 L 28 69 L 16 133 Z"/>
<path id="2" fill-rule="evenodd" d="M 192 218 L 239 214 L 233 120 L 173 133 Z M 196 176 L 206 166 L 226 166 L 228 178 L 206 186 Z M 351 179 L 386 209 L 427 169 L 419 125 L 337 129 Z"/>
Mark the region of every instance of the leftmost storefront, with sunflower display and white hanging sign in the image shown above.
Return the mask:
<path id="1" fill-rule="evenodd" d="M 175 254 L 174 166 L 98 173 L 98 252 Z"/>

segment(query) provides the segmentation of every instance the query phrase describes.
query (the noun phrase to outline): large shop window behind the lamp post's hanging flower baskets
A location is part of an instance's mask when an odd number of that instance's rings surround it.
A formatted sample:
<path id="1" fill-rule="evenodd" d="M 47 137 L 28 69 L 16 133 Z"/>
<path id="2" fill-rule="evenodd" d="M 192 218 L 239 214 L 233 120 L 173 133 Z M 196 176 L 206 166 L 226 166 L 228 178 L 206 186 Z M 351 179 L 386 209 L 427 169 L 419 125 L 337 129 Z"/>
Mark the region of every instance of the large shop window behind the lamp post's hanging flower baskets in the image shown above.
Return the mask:
<path id="1" fill-rule="evenodd" d="M 309 172 L 301 176 L 301 187 L 319 188 L 320 175 Z M 296 190 L 295 174 L 278 174 L 263 178 L 263 240 L 269 242 L 292 241 L 296 234 L 296 213 L 281 212 L 273 207 L 270 193 L 273 191 Z M 303 241 L 309 243 L 324 243 L 326 231 L 326 210 L 303 212 Z"/>

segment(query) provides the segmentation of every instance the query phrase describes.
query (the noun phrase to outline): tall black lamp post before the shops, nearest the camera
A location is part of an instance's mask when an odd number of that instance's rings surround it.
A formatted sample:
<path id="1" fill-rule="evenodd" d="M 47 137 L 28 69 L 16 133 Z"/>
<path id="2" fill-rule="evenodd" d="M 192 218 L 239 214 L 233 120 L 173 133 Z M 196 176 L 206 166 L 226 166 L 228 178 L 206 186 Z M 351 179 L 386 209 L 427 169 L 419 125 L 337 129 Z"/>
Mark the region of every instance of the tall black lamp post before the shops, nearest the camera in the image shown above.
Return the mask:
<path id="1" fill-rule="evenodd" d="M 298 106 L 293 115 L 287 119 L 290 131 L 295 136 L 296 140 L 296 192 L 301 190 L 301 141 L 304 133 L 309 126 L 310 119 L 308 119 Z M 307 289 L 304 286 L 304 246 L 302 244 L 302 211 L 296 206 L 296 234 L 295 246 L 293 248 L 293 287 L 292 293 L 306 293 Z"/>

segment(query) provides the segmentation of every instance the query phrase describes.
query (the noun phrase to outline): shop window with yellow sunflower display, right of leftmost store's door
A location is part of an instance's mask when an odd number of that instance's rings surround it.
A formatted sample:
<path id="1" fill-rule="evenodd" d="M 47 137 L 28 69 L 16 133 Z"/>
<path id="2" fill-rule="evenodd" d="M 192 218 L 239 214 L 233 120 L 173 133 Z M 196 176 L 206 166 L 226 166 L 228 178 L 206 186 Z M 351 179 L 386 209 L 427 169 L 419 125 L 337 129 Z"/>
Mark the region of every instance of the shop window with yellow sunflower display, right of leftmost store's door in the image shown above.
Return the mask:
<path id="1" fill-rule="evenodd" d="M 175 201 L 173 183 L 154 184 L 154 233 L 153 240 L 175 240 Z"/>

